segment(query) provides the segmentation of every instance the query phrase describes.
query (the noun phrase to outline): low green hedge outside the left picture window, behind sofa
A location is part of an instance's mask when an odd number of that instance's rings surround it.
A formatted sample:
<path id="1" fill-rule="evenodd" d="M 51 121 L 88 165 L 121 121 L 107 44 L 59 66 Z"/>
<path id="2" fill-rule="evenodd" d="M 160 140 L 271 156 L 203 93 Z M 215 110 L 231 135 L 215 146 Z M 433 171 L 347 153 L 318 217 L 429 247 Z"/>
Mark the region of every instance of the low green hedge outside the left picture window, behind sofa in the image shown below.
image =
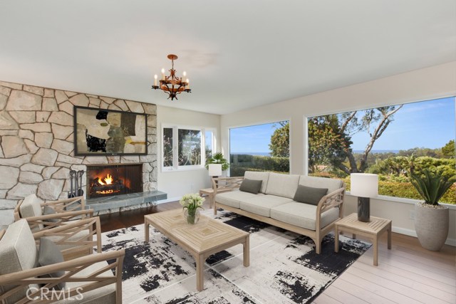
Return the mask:
<path id="1" fill-rule="evenodd" d="M 231 154 L 229 176 L 242 177 L 246 171 L 290 172 L 289 157 L 267 157 L 249 154 Z"/>

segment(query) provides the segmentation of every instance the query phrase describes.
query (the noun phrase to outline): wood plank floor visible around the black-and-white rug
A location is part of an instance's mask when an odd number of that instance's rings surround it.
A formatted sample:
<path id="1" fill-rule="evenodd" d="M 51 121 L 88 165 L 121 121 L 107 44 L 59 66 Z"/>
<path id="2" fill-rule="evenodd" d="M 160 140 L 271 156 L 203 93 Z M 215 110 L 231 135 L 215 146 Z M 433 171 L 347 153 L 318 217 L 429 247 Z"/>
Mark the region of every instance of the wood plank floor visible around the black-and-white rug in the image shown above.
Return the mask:
<path id="1" fill-rule="evenodd" d="M 205 203 L 204 208 L 209 206 Z M 175 201 L 100 216 L 101 230 L 144 223 L 145 214 L 180 208 Z M 331 303 L 452 303 L 456 304 L 456 248 L 427 251 L 418 239 L 393 233 L 392 248 L 380 239 L 378 266 L 371 247 L 314 300 Z"/>

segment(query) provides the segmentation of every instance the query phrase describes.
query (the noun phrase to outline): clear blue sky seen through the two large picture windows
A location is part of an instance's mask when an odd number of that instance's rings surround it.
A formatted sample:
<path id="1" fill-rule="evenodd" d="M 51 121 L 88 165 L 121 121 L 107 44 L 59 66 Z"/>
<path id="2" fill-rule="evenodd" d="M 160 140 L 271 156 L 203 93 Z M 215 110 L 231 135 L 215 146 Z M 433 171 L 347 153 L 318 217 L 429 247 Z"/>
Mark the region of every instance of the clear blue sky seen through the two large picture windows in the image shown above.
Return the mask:
<path id="1" fill-rule="evenodd" d="M 414 147 L 431 149 L 443 147 L 455 139 L 455 98 L 441 98 L 408 103 L 394 115 L 373 150 L 408 150 Z M 269 152 L 269 142 L 277 123 L 239 127 L 230 130 L 230 150 L 240 152 Z M 352 136 L 353 150 L 364 150 L 369 142 L 367 132 Z"/>

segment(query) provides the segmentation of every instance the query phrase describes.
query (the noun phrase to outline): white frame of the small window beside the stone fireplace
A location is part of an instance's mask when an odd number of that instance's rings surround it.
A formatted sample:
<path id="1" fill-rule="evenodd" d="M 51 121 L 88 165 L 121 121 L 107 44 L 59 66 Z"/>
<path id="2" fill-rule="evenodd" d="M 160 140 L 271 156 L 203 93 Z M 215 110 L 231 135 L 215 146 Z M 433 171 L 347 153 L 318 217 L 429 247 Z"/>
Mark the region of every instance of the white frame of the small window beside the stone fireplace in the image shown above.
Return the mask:
<path id="1" fill-rule="evenodd" d="M 163 165 L 163 160 L 165 156 L 165 145 L 163 142 L 164 129 L 172 129 L 172 166 L 165 167 Z M 192 130 L 199 131 L 201 135 L 200 142 L 200 164 L 191 164 L 187 166 L 179 165 L 179 130 Z M 212 145 L 214 147 L 214 152 L 217 152 L 216 143 L 216 132 L 217 129 L 214 127 L 195 127 L 189 125 L 176 125 L 176 124 L 162 124 L 161 126 L 161 157 L 160 157 L 160 167 L 162 172 L 175 172 L 175 171 L 189 171 L 204 169 L 206 164 L 206 131 L 212 132 Z"/>

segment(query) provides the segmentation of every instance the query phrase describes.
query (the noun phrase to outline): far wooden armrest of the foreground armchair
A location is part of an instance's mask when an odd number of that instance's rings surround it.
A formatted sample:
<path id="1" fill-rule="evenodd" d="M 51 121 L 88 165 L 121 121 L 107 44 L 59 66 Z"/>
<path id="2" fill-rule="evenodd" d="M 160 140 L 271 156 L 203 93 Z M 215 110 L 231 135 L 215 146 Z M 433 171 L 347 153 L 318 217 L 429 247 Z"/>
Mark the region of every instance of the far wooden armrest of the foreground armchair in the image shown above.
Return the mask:
<path id="1" fill-rule="evenodd" d="M 50 237 L 57 246 L 63 248 L 61 252 L 66 261 L 93 253 L 93 248 L 98 253 L 101 252 L 101 226 L 98 216 L 71 221 L 68 224 L 43 229 L 33 234 L 37 243 L 41 237 L 46 236 Z M 95 236 L 95 240 L 93 236 Z"/>

